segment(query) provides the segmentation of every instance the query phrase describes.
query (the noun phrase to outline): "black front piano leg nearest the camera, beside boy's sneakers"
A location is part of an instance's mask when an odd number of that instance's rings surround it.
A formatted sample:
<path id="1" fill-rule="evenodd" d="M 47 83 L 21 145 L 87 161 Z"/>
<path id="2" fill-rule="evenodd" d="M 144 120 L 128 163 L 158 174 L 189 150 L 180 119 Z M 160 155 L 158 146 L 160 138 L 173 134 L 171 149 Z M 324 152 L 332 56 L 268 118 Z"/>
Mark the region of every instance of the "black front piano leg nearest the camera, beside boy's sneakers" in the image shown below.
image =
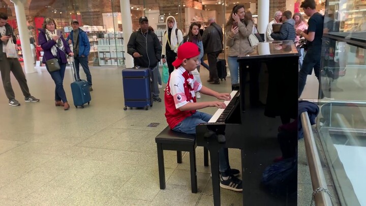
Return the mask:
<path id="1" fill-rule="evenodd" d="M 209 150 L 212 174 L 212 194 L 214 195 L 214 205 L 221 205 L 220 199 L 220 176 L 219 176 L 219 150 L 213 148 Z"/>

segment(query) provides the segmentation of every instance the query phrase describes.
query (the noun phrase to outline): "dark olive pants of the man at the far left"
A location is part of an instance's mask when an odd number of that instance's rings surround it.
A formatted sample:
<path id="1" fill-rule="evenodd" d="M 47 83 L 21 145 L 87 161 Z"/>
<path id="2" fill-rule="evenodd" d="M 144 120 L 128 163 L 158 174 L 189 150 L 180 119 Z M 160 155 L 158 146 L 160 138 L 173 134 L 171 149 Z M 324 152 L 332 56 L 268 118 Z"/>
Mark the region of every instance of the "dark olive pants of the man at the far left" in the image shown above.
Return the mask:
<path id="1" fill-rule="evenodd" d="M 8 58 L 5 52 L 2 52 L 0 55 L 2 56 L 2 60 L 0 60 L 0 72 L 2 75 L 5 94 L 8 99 L 15 99 L 14 90 L 10 82 L 10 72 L 13 73 L 15 79 L 18 81 L 24 97 L 31 96 L 31 94 L 29 94 L 23 68 L 19 63 L 19 60 L 17 58 Z"/>

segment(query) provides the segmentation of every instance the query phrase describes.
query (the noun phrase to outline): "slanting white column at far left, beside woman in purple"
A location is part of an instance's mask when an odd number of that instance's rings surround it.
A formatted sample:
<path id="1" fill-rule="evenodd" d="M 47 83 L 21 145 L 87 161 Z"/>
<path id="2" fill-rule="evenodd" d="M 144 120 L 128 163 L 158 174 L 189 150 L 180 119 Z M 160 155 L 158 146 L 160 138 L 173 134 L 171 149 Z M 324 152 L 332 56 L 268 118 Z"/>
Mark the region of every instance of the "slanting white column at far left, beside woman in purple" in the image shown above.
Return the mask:
<path id="1" fill-rule="evenodd" d="M 25 73 L 34 73 L 36 70 L 33 64 L 31 43 L 29 42 L 29 31 L 26 24 L 27 20 L 25 18 L 24 9 L 26 0 L 11 0 L 11 2 L 15 5 L 15 14 L 18 23 Z"/>

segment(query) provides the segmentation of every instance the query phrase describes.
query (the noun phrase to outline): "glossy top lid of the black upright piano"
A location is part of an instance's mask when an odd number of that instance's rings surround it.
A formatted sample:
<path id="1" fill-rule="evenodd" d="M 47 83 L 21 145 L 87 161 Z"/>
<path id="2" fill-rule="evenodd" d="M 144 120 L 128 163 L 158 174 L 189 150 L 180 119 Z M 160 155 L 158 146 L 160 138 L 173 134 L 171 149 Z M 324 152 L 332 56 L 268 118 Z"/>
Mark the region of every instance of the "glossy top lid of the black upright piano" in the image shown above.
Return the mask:
<path id="1" fill-rule="evenodd" d="M 260 42 L 253 47 L 252 53 L 238 56 L 238 60 L 243 58 L 257 58 L 257 57 L 285 57 L 298 56 L 296 46 L 293 41 L 273 41 Z"/>

